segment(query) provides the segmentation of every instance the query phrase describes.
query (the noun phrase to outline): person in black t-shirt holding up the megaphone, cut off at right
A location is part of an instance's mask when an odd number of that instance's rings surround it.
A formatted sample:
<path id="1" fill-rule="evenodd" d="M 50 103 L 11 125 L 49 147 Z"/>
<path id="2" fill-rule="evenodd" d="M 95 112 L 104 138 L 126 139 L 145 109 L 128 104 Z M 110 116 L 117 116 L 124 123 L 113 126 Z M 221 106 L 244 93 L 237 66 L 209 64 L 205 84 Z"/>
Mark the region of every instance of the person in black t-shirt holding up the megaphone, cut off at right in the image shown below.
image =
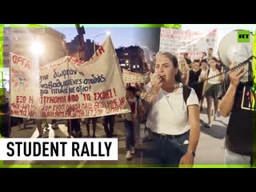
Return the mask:
<path id="1" fill-rule="evenodd" d="M 230 68 L 234 66 L 236 62 L 232 62 Z M 230 71 L 226 74 L 218 93 L 218 98 L 222 99 L 222 116 L 227 117 L 230 114 L 225 138 L 226 165 L 252 165 L 255 95 L 248 82 L 240 82 L 240 78 L 245 74 L 243 67 Z"/>

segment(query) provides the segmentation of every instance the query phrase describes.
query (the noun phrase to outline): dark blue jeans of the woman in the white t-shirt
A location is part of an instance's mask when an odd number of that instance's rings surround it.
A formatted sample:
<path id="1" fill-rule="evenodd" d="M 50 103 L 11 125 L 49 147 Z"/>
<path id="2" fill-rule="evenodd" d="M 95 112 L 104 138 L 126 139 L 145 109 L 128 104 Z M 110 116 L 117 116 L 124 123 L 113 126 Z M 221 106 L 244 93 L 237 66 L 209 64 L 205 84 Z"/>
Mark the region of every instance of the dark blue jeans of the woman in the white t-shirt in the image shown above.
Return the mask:
<path id="1" fill-rule="evenodd" d="M 188 144 L 190 131 L 172 138 L 160 138 L 150 132 L 150 141 L 142 144 L 142 165 L 178 166 Z"/>

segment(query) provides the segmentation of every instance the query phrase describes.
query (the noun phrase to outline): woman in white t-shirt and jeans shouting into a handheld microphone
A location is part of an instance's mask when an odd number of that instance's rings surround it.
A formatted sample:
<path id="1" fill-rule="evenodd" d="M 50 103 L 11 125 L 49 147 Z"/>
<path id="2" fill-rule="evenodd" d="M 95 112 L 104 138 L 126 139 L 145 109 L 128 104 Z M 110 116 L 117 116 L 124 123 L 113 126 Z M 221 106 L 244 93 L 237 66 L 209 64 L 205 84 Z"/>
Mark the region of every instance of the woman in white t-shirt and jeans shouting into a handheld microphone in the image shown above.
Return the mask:
<path id="1" fill-rule="evenodd" d="M 170 52 L 156 55 L 142 102 L 152 138 L 142 145 L 142 164 L 192 166 L 200 134 L 198 97 L 182 85 L 178 59 Z"/>

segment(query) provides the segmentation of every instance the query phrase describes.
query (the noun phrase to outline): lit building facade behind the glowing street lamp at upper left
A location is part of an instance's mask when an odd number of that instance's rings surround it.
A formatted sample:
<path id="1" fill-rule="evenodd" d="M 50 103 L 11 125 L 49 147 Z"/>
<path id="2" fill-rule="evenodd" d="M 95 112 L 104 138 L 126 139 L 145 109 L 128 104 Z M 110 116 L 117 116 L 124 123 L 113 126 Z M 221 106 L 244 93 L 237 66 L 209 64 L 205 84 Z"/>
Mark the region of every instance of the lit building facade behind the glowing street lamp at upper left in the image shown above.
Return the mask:
<path id="1" fill-rule="evenodd" d="M 50 27 L 3 27 L 3 86 L 10 89 L 10 52 L 33 59 L 31 45 L 42 44 L 38 65 L 44 66 L 68 55 L 65 35 Z"/>

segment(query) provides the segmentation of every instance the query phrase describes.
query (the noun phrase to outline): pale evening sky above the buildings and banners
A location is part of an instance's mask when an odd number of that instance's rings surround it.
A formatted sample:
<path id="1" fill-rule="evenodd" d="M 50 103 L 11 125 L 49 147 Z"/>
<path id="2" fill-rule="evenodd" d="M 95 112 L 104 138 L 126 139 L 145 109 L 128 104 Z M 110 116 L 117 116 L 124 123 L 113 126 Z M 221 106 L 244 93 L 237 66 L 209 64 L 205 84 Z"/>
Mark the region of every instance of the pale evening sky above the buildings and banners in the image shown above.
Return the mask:
<path id="1" fill-rule="evenodd" d="M 70 25 L 69 25 L 70 26 Z M 86 27 L 86 24 L 81 24 L 81 26 L 85 27 L 86 34 L 84 35 L 84 39 L 93 40 L 94 37 L 98 34 L 102 34 L 95 38 L 95 42 L 102 44 L 106 40 L 106 31 L 110 31 L 110 37 L 114 44 L 115 48 L 119 46 L 142 46 L 145 45 L 145 38 L 150 38 L 152 42 L 158 42 L 158 39 L 155 39 L 152 33 L 150 35 L 145 32 L 146 30 L 150 30 L 150 28 L 141 28 L 138 27 Z M 58 30 L 62 34 L 66 36 L 66 42 L 71 42 L 72 39 L 78 34 L 75 27 L 53 27 L 54 30 Z M 182 30 L 194 30 L 194 31 L 205 31 L 217 28 L 218 30 L 218 43 L 221 39 L 228 34 L 232 30 L 242 29 L 242 30 L 250 30 L 254 31 L 256 29 L 255 25 L 238 25 L 238 24 L 184 24 L 182 25 Z M 153 39 L 152 39 L 153 37 Z M 154 43 L 155 44 L 155 43 Z"/>

